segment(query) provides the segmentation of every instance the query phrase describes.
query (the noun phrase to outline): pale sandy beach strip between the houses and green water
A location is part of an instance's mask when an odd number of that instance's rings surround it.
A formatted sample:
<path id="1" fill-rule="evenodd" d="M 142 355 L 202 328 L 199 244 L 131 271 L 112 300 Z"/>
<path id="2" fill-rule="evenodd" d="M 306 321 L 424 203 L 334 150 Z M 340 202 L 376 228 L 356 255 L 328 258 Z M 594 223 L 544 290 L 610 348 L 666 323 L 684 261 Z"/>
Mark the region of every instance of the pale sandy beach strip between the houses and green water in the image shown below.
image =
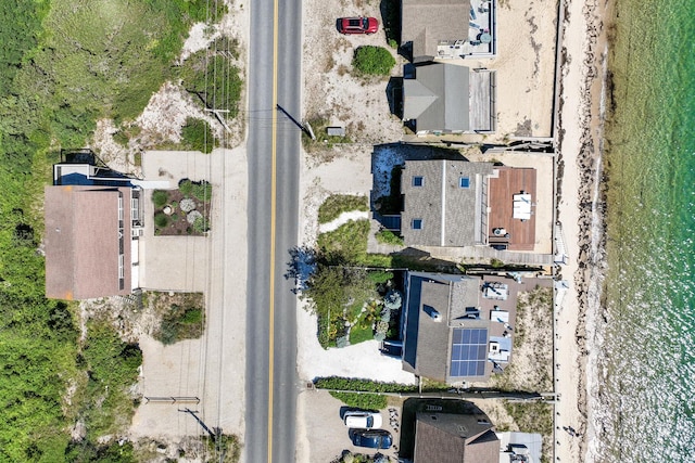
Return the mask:
<path id="1" fill-rule="evenodd" d="M 597 358 L 596 319 L 605 271 L 602 160 L 609 97 L 606 24 L 611 18 L 610 8 L 598 0 L 567 2 L 563 25 L 557 219 L 569 237 L 570 261 L 558 272 L 569 288 L 556 313 L 555 335 L 558 399 L 554 456 L 561 462 L 591 461 L 597 446 L 592 426 L 592 370 Z M 577 429 L 577 435 L 565 433 L 566 427 Z"/>

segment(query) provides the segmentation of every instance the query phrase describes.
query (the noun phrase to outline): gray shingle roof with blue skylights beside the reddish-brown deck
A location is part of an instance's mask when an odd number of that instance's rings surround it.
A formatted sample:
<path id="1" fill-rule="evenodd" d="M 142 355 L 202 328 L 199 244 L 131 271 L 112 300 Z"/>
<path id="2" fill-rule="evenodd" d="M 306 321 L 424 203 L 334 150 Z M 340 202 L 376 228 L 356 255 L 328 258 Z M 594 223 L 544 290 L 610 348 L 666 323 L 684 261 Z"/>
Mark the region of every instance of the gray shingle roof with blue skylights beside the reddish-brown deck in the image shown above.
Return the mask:
<path id="1" fill-rule="evenodd" d="M 484 194 L 491 163 L 466 160 L 407 160 L 402 172 L 404 195 L 401 233 L 407 246 L 471 246 L 482 243 Z M 422 185 L 413 184 L 414 177 Z M 468 188 L 460 179 L 468 178 Z M 413 220 L 421 219 L 422 228 L 413 229 Z"/>

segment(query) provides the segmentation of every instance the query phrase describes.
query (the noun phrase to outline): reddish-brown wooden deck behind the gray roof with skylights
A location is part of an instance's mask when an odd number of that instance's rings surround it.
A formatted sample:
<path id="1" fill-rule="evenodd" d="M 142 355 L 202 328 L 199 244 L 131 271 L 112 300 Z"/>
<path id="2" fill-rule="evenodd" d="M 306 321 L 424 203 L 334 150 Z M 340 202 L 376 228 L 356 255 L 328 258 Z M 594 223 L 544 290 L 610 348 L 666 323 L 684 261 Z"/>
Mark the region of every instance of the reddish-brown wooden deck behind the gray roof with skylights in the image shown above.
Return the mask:
<path id="1" fill-rule="evenodd" d="M 489 180 L 488 242 L 506 244 L 509 250 L 533 250 L 535 246 L 535 169 L 498 167 L 500 177 Z M 531 219 L 513 217 L 514 195 L 531 194 Z M 496 236 L 495 229 L 505 229 L 508 237 Z"/>

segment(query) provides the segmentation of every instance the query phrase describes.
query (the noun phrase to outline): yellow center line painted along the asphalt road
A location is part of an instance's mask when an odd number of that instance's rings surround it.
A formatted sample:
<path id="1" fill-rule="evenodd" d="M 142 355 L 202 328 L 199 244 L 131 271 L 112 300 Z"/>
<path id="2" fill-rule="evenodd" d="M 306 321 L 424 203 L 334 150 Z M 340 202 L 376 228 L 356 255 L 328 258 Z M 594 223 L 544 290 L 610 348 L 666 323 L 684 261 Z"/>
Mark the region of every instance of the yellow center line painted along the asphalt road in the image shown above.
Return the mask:
<path id="1" fill-rule="evenodd" d="M 277 142 L 278 142 L 278 0 L 273 4 L 273 129 L 270 133 L 270 297 L 268 344 L 268 463 L 273 463 L 273 383 L 275 351 L 275 214 L 277 208 Z"/>

